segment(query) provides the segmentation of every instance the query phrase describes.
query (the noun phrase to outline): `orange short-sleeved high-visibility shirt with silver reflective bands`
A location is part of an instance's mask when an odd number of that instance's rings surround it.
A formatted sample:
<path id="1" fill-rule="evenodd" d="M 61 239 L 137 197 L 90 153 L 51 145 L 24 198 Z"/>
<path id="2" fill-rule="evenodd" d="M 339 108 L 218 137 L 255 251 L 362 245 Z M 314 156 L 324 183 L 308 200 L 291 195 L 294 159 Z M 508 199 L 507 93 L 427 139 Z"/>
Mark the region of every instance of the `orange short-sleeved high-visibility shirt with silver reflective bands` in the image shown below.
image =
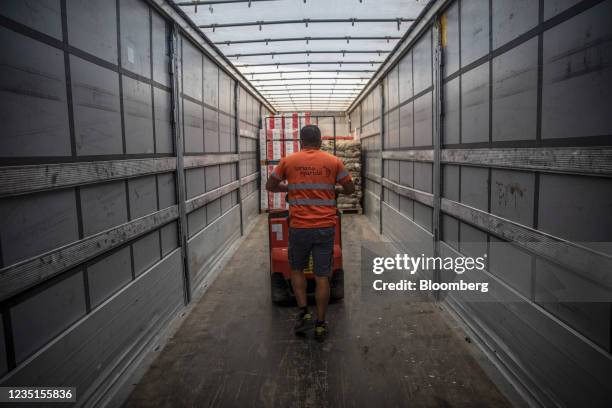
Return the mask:
<path id="1" fill-rule="evenodd" d="M 290 226 L 326 228 L 336 225 L 336 183 L 351 180 L 336 156 L 305 148 L 283 159 L 272 177 L 287 180 Z"/>

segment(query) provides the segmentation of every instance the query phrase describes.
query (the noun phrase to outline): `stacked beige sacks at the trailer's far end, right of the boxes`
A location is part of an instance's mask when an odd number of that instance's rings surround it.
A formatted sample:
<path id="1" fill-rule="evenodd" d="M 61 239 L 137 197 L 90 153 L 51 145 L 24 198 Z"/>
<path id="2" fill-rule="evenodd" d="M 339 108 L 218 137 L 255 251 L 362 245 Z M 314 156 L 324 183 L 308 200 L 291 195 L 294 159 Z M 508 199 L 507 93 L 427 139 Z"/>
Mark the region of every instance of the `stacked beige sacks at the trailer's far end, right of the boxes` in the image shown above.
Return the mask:
<path id="1" fill-rule="evenodd" d="M 324 140 L 321 149 L 334 154 L 334 141 Z M 342 160 L 355 182 L 355 192 L 338 197 L 338 209 L 361 211 L 361 143 L 357 140 L 336 141 L 336 156 Z"/>

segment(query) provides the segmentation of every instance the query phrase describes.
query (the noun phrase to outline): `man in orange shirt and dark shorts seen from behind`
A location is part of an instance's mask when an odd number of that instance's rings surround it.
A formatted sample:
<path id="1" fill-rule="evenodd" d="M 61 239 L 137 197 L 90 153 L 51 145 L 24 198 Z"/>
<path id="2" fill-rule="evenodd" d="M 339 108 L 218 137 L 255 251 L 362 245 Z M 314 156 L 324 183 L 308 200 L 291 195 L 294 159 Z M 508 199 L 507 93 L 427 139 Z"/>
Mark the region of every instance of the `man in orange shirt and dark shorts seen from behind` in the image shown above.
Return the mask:
<path id="1" fill-rule="evenodd" d="M 268 178 L 266 189 L 289 195 L 291 286 L 300 309 L 295 334 L 304 336 L 313 327 L 304 277 L 312 254 L 317 303 L 314 329 L 315 337 L 322 339 L 328 331 L 325 312 L 336 233 L 336 193 L 352 194 L 355 186 L 342 161 L 320 150 L 321 131 L 317 126 L 304 126 L 300 130 L 300 143 L 302 150 L 280 161 Z M 287 184 L 281 184 L 284 180 Z"/>

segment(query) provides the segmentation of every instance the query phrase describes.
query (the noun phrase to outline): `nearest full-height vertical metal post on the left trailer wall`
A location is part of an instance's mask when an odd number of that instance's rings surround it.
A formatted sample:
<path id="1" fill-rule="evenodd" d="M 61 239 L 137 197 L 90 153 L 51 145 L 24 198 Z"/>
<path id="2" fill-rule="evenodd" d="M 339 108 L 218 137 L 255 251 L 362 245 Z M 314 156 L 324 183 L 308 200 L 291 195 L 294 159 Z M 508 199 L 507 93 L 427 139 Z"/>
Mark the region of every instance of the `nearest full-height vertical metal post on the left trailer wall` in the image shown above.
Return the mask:
<path id="1" fill-rule="evenodd" d="M 187 212 L 185 210 L 185 167 L 183 164 L 183 133 L 181 129 L 181 76 L 182 62 L 179 55 L 180 49 L 180 28 L 177 24 L 172 26 L 170 40 L 170 79 L 172 85 L 172 138 L 174 141 L 174 153 L 176 155 L 176 201 L 178 205 L 178 234 L 181 244 L 181 256 L 183 258 L 183 291 L 184 302 L 189 303 L 191 299 L 191 284 L 189 277 L 189 251 L 188 251 L 188 232 L 187 232 Z"/>

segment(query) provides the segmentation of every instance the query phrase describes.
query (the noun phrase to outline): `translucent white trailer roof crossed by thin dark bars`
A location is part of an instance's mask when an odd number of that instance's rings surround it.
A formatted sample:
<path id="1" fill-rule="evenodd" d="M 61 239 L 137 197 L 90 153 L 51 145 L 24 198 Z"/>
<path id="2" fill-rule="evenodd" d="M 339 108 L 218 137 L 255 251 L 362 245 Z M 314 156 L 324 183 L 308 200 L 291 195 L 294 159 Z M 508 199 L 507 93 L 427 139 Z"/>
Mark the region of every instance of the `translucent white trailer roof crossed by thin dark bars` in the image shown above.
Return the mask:
<path id="1" fill-rule="evenodd" d="M 278 111 L 326 111 L 350 106 L 427 1 L 175 3 Z"/>

